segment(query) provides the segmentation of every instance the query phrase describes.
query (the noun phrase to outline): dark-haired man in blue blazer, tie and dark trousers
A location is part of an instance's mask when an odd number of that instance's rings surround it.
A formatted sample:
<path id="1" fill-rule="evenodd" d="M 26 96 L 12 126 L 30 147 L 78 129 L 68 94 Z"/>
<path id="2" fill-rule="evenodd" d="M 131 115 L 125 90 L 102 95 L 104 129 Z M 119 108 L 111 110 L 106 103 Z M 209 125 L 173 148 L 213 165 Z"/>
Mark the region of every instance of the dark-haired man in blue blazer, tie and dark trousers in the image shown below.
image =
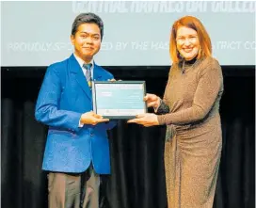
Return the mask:
<path id="1" fill-rule="evenodd" d="M 91 81 L 113 75 L 95 64 L 104 24 L 93 13 L 72 24 L 74 53 L 47 69 L 35 117 L 49 126 L 42 169 L 48 170 L 49 208 L 99 207 L 99 174 L 110 173 L 106 130 L 115 122 L 92 110 Z"/>

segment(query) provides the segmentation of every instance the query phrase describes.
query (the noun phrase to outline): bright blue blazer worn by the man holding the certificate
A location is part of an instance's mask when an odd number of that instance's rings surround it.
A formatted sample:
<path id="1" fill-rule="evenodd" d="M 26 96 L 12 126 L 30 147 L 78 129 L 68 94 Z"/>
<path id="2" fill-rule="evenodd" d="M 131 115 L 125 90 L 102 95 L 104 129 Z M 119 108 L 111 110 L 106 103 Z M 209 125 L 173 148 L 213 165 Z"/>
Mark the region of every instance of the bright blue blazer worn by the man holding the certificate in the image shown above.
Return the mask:
<path id="1" fill-rule="evenodd" d="M 112 78 L 110 72 L 94 65 L 94 80 Z M 79 127 L 81 115 L 90 110 L 91 90 L 75 57 L 72 55 L 49 66 L 35 110 L 36 120 L 49 126 L 42 169 L 83 172 L 92 162 L 97 173 L 110 173 L 106 130 L 113 128 L 116 122 Z"/>

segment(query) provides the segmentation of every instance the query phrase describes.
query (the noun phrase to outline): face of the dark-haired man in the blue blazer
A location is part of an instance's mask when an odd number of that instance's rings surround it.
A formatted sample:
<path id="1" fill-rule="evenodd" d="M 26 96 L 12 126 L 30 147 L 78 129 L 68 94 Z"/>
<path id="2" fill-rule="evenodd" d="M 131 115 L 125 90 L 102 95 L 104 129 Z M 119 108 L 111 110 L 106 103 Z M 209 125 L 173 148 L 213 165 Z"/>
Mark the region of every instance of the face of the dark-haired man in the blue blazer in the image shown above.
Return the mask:
<path id="1" fill-rule="evenodd" d="M 89 62 L 101 48 L 101 30 L 97 24 L 80 24 L 71 40 L 75 55 Z"/>

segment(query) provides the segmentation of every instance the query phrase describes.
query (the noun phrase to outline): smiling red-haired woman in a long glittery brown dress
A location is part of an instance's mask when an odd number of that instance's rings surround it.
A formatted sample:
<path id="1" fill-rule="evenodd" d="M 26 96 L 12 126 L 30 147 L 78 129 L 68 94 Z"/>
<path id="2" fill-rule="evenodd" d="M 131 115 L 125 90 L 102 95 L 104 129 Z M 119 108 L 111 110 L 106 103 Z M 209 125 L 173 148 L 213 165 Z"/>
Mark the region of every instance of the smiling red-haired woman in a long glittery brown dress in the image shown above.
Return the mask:
<path id="1" fill-rule="evenodd" d="M 185 16 L 173 24 L 169 51 L 173 64 L 164 99 L 153 94 L 144 98 L 156 114 L 138 115 L 128 122 L 167 125 L 168 208 L 211 208 L 222 147 L 221 68 L 195 17 Z"/>

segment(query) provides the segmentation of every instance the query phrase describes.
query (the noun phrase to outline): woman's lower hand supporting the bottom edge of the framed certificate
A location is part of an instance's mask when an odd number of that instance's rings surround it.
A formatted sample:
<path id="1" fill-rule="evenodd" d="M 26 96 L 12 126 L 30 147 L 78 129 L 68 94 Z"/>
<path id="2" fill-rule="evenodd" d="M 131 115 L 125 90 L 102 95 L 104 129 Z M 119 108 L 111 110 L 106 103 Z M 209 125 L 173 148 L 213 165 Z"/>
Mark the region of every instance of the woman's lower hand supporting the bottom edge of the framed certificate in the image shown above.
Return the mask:
<path id="1" fill-rule="evenodd" d="M 127 122 L 141 124 L 146 127 L 159 125 L 157 116 L 153 113 L 139 114 L 136 116 L 136 119 L 128 120 Z"/>

